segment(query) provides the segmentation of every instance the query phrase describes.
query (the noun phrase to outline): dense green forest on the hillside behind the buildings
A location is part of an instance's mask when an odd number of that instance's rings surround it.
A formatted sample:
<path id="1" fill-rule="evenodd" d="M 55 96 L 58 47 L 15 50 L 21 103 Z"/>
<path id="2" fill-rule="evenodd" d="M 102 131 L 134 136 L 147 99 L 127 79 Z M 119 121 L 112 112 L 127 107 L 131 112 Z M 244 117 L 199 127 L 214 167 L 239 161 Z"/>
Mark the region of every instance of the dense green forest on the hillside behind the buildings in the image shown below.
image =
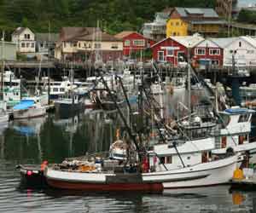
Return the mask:
<path id="1" fill-rule="evenodd" d="M 154 13 L 170 7 L 213 8 L 215 0 L 0 0 L 0 30 L 28 26 L 59 32 L 62 26 L 96 26 L 109 33 L 140 31 Z M 50 30 L 49 30 L 50 29 Z"/>

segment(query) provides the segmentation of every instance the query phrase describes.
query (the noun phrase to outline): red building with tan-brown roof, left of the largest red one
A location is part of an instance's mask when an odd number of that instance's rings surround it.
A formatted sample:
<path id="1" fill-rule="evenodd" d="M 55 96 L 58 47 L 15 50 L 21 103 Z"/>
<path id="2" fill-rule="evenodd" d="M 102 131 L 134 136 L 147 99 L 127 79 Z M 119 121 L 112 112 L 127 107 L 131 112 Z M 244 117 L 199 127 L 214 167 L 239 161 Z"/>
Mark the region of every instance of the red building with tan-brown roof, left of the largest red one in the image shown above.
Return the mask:
<path id="1" fill-rule="evenodd" d="M 150 48 L 155 43 L 150 38 L 143 37 L 143 35 L 138 32 L 119 32 L 114 37 L 123 40 L 123 55 L 125 56 Z"/>

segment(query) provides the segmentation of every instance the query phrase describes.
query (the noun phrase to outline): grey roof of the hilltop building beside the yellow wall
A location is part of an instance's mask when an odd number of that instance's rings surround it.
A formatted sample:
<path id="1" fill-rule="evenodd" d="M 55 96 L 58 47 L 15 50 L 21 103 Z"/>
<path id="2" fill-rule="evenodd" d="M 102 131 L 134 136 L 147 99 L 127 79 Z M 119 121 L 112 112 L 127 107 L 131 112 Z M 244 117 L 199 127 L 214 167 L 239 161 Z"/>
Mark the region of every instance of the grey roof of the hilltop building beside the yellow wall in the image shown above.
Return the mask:
<path id="1" fill-rule="evenodd" d="M 203 18 L 218 18 L 214 9 L 201 8 L 175 8 L 182 18 L 189 18 L 190 15 L 202 15 Z"/>

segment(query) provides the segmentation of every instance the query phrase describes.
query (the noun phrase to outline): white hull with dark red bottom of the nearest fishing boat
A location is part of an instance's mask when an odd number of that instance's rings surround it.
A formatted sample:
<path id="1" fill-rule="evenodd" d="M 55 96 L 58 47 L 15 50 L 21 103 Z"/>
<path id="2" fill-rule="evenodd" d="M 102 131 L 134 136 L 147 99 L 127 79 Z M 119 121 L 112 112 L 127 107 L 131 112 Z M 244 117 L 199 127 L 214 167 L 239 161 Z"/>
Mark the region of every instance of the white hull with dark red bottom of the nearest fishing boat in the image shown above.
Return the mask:
<path id="1" fill-rule="evenodd" d="M 228 183 L 236 170 L 237 156 L 178 170 L 143 174 L 108 174 L 45 170 L 51 187 L 96 191 L 161 191 L 165 188 L 206 187 Z"/>

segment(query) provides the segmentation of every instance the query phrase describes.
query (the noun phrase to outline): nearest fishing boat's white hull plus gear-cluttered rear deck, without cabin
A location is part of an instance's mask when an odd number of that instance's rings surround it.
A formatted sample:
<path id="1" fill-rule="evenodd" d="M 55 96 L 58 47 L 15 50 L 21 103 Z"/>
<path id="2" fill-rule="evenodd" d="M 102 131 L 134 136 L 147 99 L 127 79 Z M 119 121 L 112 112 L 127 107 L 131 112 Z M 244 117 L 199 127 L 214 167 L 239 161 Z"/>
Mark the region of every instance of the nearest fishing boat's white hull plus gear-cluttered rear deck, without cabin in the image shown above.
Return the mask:
<path id="1" fill-rule="evenodd" d="M 55 164 L 44 170 L 51 187 L 86 191 L 162 191 L 166 188 L 205 187 L 230 181 L 236 169 L 237 156 L 212 160 L 204 164 L 176 170 L 139 172 L 136 166 L 119 165 L 118 160 L 95 162 L 76 161 L 77 170 L 71 170 L 67 162 Z M 64 165 L 66 164 L 66 165 Z M 70 164 L 70 165 L 71 165 Z M 103 166 L 102 166 L 103 164 Z"/>

